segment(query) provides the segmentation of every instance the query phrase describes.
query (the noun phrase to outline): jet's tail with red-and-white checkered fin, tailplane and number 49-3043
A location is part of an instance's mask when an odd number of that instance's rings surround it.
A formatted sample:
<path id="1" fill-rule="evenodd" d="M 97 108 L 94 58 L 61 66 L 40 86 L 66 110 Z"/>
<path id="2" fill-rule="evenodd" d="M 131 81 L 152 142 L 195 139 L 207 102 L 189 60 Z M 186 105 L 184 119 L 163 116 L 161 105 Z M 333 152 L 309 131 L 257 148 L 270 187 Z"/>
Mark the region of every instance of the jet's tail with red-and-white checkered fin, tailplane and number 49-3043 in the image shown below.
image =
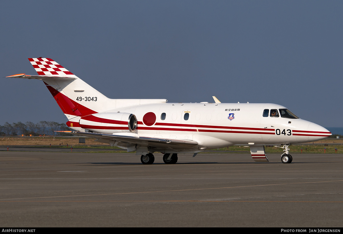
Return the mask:
<path id="1" fill-rule="evenodd" d="M 116 108 L 148 103 L 165 103 L 165 99 L 111 99 L 50 58 L 28 59 L 38 75 L 16 74 L 9 77 L 43 80 L 57 104 L 67 116 L 67 126 L 84 131 L 79 125 L 83 116 Z"/>

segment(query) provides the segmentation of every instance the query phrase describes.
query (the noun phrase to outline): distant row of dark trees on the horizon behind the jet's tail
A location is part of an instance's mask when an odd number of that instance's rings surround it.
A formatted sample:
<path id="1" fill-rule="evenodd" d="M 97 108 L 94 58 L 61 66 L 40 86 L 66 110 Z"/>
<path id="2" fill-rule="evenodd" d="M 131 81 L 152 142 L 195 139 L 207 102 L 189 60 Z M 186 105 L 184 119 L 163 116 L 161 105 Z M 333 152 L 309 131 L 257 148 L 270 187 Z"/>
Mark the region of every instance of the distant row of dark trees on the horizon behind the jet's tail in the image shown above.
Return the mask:
<path id="1" fill-rule="evenodd" d="M 67 133 L 54 132 L 54 131 L 70 131 L 66 124 L 59 124 L 58 122 L 40 121 L 37 124 L 33 122 L 16 122 L 10 124 L 5 122 L 0 125 L 0 136 L 70 136 Z"/>

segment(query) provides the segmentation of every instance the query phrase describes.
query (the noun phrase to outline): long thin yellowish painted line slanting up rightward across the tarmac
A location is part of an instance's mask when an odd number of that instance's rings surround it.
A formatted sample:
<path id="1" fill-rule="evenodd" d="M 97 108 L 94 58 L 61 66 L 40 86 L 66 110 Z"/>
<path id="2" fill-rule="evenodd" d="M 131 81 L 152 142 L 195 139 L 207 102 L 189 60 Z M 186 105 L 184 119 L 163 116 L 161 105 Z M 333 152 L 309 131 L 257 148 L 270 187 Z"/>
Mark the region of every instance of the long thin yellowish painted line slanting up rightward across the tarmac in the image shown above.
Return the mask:
<path id="1" fill-rule="evenodd" d="M 262 186 L 274 186 L 274 185 L 313 184 L 313 183 L 328 183 L 328 182 L 342 182 L 342 181 L 343 180 L 328 180 L 328 181 L 316 181 L 316 182 L 297 182 L 297 183 L 268 184 L 268 185 L 247 185 L 247 186 L 218 187 L 218 188 L 194 188 L 194 189 L 177 189 L 177 190 L 144 191 L 144 192 L 121 192 L 121 193 L 114 193 L 114 194 L 87 194 L 87 195 L 69 195 L 69 196 L 51 196 L 51 197 L 9 198 L 9 199 L 0 199 L 0 201 L 18 200 L 18 199 L 38 199 L 38 198 L 62 198 L 62 197 L 86 197 L 86 196 L 106 196 L 106 195 L 126 195 L 126 194 L 148 194 L 148 193 L 155 193 L 155 192 L 180 192 L 180 191 L 197 191 L 197 190 L 228 189 L 228 188 L 249 188 L 249 187 L 262 187 Z"/>

